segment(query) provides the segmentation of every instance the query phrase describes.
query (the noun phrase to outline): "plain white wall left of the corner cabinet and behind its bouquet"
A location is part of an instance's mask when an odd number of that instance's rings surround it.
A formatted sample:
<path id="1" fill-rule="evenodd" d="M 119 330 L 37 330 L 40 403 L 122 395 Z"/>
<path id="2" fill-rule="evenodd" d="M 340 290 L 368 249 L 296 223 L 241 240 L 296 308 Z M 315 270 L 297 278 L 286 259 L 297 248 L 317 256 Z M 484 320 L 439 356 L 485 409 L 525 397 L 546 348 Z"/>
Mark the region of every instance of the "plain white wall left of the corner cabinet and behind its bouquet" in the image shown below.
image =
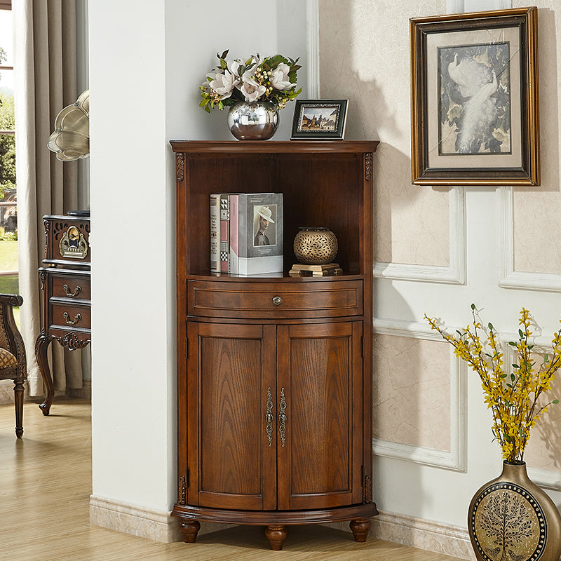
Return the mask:
<path id="1" fill-rule="evenodd" d="M 89 41 L 93 498 L 107 499 L 109 509 L 165 513 L 176 497 L 175 159 L 168 142 L 230 137 L 225 111 L 198 107 L 198 86 L 218 51 L 281 52 L 305 64 L 306 4 L 95 0 Z M 305 72 L 299 82 L 305 86 Z M 292 109 L 280 121 L 275 138 L 286 140 Z"/>

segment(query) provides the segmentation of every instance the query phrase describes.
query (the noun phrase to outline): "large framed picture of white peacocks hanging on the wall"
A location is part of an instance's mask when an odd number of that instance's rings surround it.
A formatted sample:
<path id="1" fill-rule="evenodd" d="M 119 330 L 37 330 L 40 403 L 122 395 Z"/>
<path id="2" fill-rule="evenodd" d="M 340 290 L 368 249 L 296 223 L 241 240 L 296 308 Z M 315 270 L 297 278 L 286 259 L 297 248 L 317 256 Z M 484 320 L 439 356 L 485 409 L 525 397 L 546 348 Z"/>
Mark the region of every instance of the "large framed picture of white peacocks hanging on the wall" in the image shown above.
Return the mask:
<path id="1" fill-rule="evenodd" d="M 412 182 L 539 185 L 537 9 L 410 20 Z"/>

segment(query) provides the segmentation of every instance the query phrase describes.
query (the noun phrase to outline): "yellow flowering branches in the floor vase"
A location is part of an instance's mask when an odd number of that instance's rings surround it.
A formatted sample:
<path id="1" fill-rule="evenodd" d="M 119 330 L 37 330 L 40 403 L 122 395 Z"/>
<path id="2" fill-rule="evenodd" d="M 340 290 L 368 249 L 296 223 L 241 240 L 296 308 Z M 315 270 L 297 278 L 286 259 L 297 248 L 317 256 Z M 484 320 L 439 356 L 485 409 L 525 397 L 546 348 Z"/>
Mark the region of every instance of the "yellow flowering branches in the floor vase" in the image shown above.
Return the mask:
<path id="1" fill-rule="evenodd" d="M 471 304 L 471 311 L 473 323 L 465 330 L 457 330 L 457 335 L 442 330 L 437 321 L 426 314 L 425 319 L 431 329 L 438 331 L 454 346 L 456 356 L 465 360 L 479 374 L 485 403 L 493 414 L 492 433 L 501 445 L 503 459 L 511 463 L 522 462 L 530 428 L 548 410 L 549 405 L 559 403 L 556 399 L 544 403 L 543 398 L 540 398 L 550 391 L 555 372 L 561 367 L 561 329 L 553 334 L 551 356 L 548 353 L 536 353 L 537 349 L 534 349 L 530 339 L 532 319 L 529 311 L 522 308 L 518 320 L 518 341 L 508 343 L 516 348 L 518 357 L 511 370 L 503 364 L 503 353 L 493 325 L 489 323 L 487 329 L 482 327 L 475 304 Z M 536 367 L 534 360 L 536 354 L 541 356 L 539 367 Z"/>

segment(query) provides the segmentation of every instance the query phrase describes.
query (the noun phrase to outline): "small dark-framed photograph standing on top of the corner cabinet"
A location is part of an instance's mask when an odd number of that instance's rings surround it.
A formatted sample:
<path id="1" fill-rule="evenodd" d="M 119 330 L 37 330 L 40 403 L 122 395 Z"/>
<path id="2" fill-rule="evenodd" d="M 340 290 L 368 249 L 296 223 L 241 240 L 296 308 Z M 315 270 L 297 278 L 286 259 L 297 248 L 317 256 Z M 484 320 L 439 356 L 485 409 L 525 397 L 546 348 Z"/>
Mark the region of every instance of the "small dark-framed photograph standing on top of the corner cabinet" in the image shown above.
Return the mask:
<path id="1" fill-rule="evenodd" d="M 296 100 L 290 140 L 343 140 L 349 100 Z"/>

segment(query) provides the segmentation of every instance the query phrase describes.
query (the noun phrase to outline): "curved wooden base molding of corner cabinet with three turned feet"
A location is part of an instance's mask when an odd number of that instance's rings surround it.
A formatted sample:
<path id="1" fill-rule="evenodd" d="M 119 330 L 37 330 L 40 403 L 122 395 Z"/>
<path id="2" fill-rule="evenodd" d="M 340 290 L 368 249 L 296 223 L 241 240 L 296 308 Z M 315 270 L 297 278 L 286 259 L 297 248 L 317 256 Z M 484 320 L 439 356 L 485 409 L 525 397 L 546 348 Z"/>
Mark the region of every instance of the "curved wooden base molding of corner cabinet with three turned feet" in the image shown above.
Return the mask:
<path id="1" fill-rule="evenodd" d="M 317 511 L 227 511 L 176 504 L 172 515 L 180 518 L 180 530 L 185 543 L 194 543 L 200 527 L 198 520 L 236 525 L 265 526 L 271 549 L 281 550 L 288 534 L 287 525 L 349 522 L 356 541 L 364 542 L 370 531 L 370 518 L 378 514 L 375 503 Z"/>

